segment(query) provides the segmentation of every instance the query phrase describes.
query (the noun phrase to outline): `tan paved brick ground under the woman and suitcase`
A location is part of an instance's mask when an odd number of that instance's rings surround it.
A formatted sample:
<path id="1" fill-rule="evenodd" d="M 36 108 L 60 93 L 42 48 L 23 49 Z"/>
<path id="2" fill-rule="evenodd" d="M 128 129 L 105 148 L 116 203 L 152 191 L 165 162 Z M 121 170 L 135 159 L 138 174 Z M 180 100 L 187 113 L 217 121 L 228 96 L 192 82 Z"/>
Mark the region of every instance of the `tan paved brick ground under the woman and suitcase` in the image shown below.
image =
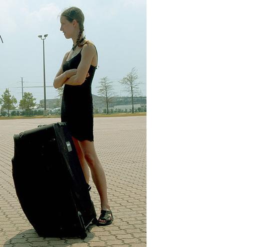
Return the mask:
<path id="1" fill-rule="evenodd" d="M 0 120 L 0 246 L 146 246 L 146 117 L 94 118 L 94 144 L 107 176 L 114 221 L 79 238 L 39 237 L 26 219 L 13 185 L 13 134 L 59 118 Z M 90 194 L 100 211 L 96 188 Z"/>

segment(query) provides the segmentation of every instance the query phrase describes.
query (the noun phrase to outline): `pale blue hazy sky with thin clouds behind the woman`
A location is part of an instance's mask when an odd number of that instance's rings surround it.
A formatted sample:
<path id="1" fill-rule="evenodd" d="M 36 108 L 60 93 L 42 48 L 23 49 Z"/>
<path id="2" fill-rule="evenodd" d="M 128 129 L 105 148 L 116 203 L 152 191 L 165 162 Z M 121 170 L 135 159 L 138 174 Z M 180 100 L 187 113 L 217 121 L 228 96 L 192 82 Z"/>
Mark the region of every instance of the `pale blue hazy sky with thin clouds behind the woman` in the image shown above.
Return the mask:
<path id="1" fill-rule="evenodd" d="M 42 40 L 44 40 L 45 82 L 52 86 L 72 40 L 59 30 L 59 15 L 67 7 L 79 7 L 85 17 L 84 33 L 98 51 L 98 69 L 92 93 L 102 77 L 112 81 L 117 96 L 128 93 L 118 82 L 132 67 L 137 69 L 141 95 L 146 95 L 146 1 L 145 0 L 0 0 L 0 94 L 9 88 L 17 100 L 23 90 L 43 99 Z M 27 86 L 27 88 L 25 88 Z M 46 98 L 56 89 L 46 87 Z"/>

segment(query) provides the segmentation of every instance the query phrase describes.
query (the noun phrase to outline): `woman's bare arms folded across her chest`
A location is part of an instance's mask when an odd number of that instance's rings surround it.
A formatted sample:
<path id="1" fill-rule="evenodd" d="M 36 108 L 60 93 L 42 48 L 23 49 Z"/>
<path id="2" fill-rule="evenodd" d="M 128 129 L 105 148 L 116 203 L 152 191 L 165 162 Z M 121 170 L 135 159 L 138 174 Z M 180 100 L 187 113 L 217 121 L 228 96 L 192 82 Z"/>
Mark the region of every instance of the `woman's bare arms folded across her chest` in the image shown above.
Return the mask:
<path id="1" fill-rule="evenodd" d="M 62 64 L 54 78 L 53 86 L 61 87 L 63 84 L 81 85 L 85 78 L 89 76 L 88 70 L 92 61 L 94 50 L 92 45 L 85 44 L 81 50 L 81 61 L 76 68 L 69 69 L 63 72 L 62 65 L 66 61 L 68 52 L 65 53 Z"/>

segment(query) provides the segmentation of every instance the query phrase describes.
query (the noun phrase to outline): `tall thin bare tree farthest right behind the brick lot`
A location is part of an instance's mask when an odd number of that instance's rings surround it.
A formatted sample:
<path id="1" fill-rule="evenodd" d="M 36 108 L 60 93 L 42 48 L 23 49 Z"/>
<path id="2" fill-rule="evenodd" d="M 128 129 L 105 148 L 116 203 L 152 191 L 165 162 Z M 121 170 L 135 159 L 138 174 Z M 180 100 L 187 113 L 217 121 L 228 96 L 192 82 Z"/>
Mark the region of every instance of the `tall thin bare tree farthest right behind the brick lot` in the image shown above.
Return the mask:
<path id="1" fill-rule="evenodd" d="M 133 67 L 131 71 L 119 81 L 122 85 L 124 85 L 125 90 L 131 94 L 132 113 L 134 112 L 133 96 L 135 96 L 139 91 L 138 85 L 140 82 L 136 81 L 137 78 L 137 70 L 135 67 Z"/>

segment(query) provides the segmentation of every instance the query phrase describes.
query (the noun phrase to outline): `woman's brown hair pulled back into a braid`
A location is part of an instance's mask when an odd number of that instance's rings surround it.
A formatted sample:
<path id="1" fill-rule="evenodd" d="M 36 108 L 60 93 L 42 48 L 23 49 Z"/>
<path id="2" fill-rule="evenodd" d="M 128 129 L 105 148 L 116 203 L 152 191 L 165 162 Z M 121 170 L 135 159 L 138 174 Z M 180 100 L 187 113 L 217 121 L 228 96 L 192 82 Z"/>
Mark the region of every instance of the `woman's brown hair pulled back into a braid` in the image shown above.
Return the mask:
<path id="1" fill-rule="evenodd" d="M 83 27 L 84 15 L 82 13 L 82 10 L 78 7 L 69 7 L 65 9 L 60 15 L 65 16 L 69 22 L 72 22 L 75 19 L 79 23 L 79 33 L 76 39 L 76 45 L 80 46 L 81 35 L 82 35 L 82 32 L 84 31 L 84 27 Z"/>

